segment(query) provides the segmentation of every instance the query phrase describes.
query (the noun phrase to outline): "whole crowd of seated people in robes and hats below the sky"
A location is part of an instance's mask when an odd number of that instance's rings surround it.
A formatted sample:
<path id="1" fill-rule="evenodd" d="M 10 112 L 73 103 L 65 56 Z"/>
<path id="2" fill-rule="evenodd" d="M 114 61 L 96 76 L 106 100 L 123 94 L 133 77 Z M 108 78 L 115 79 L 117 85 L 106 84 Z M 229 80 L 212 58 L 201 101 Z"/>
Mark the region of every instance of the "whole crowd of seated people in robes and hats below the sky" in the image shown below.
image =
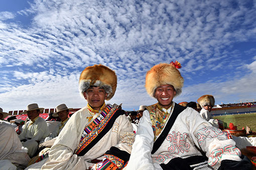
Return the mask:
<path id="1" fill-rule="evenodd" d="M 101 64 L 81 72 L 79 91 L 87 105 L 71 117 L 71 108 L 60 104 L 47 119 L 60 121 L 45 121 L 39 116 L 44 108 L 32 103 L 24 112 L 28 121 L 13 120 L 20 123 L 15 130 L 1 108 L 0 169 L 252 169 L 211 117 L 212 95 L 186 106 L 173 101 L 184 83 L 180 67 L 177 61 L 153 66 L 145 87 L 157 102 L 128 115 L 121 104 L 105 103 L 117 77 Z"/>

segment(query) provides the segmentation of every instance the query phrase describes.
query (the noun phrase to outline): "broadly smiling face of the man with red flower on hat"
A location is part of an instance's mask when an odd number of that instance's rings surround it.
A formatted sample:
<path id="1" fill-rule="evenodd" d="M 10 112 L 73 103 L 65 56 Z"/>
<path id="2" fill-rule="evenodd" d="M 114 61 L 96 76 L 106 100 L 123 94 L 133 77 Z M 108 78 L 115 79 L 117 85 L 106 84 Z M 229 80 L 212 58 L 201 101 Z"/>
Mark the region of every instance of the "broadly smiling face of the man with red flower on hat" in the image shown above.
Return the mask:
<path id="1" fill-rule="evenodd" d="M 156 88 L 155 97 L 158 100 L 160 106 L 168 109 L 172 105 L 173 97 L 176 91 L 172 85 L 165 84 Z"/>

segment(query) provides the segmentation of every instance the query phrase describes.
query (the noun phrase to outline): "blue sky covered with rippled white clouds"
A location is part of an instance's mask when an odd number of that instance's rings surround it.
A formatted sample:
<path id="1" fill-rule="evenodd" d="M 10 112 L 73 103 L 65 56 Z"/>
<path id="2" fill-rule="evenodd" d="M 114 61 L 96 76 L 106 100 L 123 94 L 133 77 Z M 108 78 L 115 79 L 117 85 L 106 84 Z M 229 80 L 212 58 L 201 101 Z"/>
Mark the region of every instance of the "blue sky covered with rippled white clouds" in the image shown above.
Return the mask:
<path id="1" fill-rule="evenodd" d="M 175 60 L 184 78 L 175 102 L 256 101 L 255 9 L 256 0 L 2 0 L 0 107 L 83 107 L 80 73 L 103 64 L 117 75 L 106 103 L 138 110 L 157 102 L 147 71 Z"/>

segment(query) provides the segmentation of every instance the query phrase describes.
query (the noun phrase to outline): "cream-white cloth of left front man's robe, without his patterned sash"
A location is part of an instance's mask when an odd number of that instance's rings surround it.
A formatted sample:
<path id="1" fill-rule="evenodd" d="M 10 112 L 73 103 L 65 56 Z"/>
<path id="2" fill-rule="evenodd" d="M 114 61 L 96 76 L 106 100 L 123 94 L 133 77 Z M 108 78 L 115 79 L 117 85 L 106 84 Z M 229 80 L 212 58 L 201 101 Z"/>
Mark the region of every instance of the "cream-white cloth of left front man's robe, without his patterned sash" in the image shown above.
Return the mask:
<path id="1" fill-rule="evenodd" d="M 134 141 L 132 124 L 125 115 L 120 115 L 115 119 L 112 128 L 83 156 L 74 154 L 80 142 L 82 132 L 97 115 L 96 113 L 90 120 L 91 114 L 87 107 L 81 108 L 74 113 L 60 134 L 54 145 L 51 147 L 49 158 L 45 164 L 35 163 L 27 169 L 87 169 L 92 165 L 92 159 L 101 160 L 103 154 L 111 147 L 115 146 L 121 150 L 131 153 Z M 90 121 L 89 121 L 90 120 Z M 50 161 L 49 161 L 50 160 Z"/>

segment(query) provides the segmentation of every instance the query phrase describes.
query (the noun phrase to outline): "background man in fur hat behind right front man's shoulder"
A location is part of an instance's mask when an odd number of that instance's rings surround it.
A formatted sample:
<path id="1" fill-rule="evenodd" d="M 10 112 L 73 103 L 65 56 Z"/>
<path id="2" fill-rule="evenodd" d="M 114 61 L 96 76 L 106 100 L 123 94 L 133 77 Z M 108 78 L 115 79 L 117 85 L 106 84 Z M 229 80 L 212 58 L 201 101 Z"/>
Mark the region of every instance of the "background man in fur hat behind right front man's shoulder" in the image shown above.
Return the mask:
<path id="1" fill-rule="evenodd" d="M 197 102 L 202 107 L 201 111 L 199 112 L 201 117 L 206 121 L 209 121 L 214 127 L 219 128 L 218 120 L 213 119 L 211 115 L 211 109 L 215 104 L 215 99 L 212 95 L 202 95 L 197 99 Z"/>

